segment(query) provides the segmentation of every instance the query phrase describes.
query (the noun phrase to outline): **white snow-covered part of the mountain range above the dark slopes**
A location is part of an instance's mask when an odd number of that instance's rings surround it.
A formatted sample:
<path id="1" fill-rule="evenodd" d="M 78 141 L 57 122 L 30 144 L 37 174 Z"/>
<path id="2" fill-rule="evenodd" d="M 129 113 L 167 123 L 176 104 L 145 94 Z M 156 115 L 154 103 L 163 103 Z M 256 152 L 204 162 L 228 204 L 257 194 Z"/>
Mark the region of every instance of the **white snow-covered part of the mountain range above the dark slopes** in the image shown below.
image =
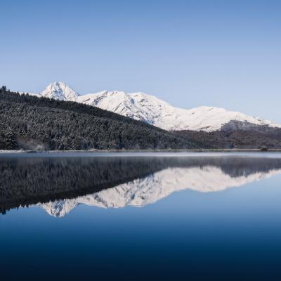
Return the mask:
<path id="1" fill-rule="evenodd" d="M 243 122 L 248 126 L 255 124 L 281 128 L 281 124 L 218 107 L 201 106 L 189 110 L 173 107 L 164 100 L 146 93 L 101 91 L 79 96 L 63 82 L 55 82 L 42 91 L 41 96 L 93 105 L 169 131 L 217 131 L 232 121 Z"/>

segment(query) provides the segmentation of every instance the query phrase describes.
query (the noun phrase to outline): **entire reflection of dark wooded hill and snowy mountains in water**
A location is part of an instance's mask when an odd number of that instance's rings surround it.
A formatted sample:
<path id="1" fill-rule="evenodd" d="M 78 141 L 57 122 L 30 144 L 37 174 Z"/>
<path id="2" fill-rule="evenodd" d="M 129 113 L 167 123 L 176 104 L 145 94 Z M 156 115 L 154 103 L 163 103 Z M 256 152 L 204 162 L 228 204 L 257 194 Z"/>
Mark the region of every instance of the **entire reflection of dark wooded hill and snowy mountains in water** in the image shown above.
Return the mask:
<path id="1" fill-rule="evenodd" d="M 178 190 L 221 191 L 279 173 L 278 158 L 0 158 L 0 211 L 39 204 L 62 217 L 78 204 L 140 207 Z"/>

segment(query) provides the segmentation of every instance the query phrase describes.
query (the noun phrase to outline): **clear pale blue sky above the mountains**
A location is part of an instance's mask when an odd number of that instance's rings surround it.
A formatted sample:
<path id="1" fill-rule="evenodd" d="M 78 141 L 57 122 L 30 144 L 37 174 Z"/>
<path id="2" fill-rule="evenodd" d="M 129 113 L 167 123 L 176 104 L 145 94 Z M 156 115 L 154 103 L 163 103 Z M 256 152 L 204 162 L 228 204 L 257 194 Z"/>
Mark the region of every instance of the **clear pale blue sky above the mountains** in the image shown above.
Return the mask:
<path id="1" fill-rule="evenodd" d="M 0 84 L 144 91 L 281 122 L 281 1 L 0 2 Z"/>

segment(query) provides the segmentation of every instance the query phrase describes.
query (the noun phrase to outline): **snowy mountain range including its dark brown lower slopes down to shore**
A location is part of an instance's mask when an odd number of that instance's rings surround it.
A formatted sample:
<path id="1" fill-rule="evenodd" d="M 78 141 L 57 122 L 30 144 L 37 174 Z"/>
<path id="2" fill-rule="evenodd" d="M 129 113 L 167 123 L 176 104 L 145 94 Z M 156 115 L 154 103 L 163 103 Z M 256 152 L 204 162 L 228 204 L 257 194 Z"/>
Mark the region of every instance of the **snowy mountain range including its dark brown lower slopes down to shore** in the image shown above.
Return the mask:
<path id="1" fill-rule="evenodd" d="M 34 95 L 37 94 L 32 93 Z M 70 100 L 115 112 L 143 124 L 172 131 L 174 136 L 192 143 L 193 148 L 281 148 L 280 124 L 223 108 L 202 106 L 185 110 L 155 96 L 123 91 L 101 91 L 80 96 L 63 82 L 50 84 L 37 96 Z"/>

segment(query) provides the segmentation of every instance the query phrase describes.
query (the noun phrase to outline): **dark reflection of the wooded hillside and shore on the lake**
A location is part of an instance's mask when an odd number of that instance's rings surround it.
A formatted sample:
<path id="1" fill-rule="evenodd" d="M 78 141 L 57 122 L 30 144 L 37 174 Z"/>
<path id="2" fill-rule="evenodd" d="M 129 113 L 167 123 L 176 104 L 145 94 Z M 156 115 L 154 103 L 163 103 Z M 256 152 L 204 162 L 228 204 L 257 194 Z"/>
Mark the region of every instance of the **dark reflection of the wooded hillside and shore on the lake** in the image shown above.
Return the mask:
<path id="1" fill-rule="evenodd" d="M 231 177 L 281 169 L 281 159 L 243 157 L 0 157 L 0 211 L 70 199 L 169 167 L 216 166 Z"/>

